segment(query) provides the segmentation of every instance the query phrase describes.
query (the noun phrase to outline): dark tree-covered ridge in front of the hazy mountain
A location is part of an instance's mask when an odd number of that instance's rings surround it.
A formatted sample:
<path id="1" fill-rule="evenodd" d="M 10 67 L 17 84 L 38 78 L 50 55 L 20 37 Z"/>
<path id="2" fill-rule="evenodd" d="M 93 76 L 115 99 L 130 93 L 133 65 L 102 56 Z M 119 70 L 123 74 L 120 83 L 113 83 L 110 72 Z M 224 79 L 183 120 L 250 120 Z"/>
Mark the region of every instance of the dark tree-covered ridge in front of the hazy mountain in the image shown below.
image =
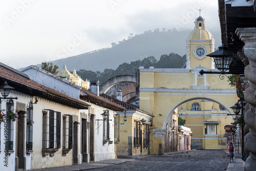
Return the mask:
<path id="1" fill-rule="evenodd" d="M 136 60 L 129 63 L 122 63 L 117 67 L 116 70 L 113 69 L 104 69 L 103 72 L 100 71 L 88 71 L 81 69 L 76 71 L 76 73 L 81 76 L 83 80 L 99 80 L 100 84 L 106 80 L 117 76 L 117 75 L 135 75 L 139 67 L 149 68 L 182 68 L 186 63 L 186 55 L 180 56 L 175 53 L 170 53 L 169 55 L 161 55 L 160 60 L 158 61 L 154 56 L 144 58 L 143 60 Z"/>

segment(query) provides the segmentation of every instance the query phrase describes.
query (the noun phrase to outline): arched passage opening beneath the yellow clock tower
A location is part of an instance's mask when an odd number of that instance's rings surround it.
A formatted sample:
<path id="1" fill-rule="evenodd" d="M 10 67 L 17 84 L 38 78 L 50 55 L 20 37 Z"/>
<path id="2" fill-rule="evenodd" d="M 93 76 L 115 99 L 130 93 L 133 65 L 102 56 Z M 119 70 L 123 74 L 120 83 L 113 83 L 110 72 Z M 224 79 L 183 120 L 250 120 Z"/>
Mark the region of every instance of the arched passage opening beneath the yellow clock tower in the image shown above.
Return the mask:
<path id="1" fill-rule="evenodd" d="M 188 142 L 189 147 L 186 149 L 222 149 L 227 146 L 227 138 L 225 137 L 224 127 L 230 125 L 232 116 L 229 106 L 219 102 L 218 100 L 206 97 L 193 97 L 185 99 L 175 105 L 169 113 L 162 125 L 162 130 L 166 130 L 164 135 L 164 152 L 176 151 L 180 149 L 178 139 L 184 135 L 178 135 L 178 131 L 172 132 L 170 128 L 178 129 L 177 123 L 169 123 L 179 116 L 185 120 L 184 126 L 191 131 Z M 177 135 L 173 135 L 177 134 Z M 171 135 L 171 136 L 168 136 Z"/>

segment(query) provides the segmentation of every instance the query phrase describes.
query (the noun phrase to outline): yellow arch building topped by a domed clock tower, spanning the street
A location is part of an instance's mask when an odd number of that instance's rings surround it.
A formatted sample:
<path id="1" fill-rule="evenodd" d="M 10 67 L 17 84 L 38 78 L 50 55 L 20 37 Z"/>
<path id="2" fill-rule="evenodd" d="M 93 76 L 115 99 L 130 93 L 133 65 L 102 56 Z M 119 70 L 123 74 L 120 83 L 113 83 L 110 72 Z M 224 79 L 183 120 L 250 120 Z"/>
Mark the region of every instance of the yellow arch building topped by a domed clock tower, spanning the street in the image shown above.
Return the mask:
<path id="1" fill-rule="evenodd" d="M 155 69 L 140 67 L 140 109 L 154 114 L 154 134 L 151 134 L 151 154 L 164 152 L 165 126 L 177 110 L 193 132 L 191 146 L 203 149 L 226 148 L 224 126 L 232 121 L 229 107 L 237 100 L 236 90 L 228 85 L 227 77 L 199 73 L 219 71 L 214 60 L 206 55 L 214 52 L 215 40 L 206 29 L 202 16 L 195 20 L 195 29 L 186 40 L 185 69 Z M 191 110 L 198 103 L 200 110 Z M 182 106 L 182 109 L 181 109 Z M 200 146 L 201 144 L 201 146 Z"/>

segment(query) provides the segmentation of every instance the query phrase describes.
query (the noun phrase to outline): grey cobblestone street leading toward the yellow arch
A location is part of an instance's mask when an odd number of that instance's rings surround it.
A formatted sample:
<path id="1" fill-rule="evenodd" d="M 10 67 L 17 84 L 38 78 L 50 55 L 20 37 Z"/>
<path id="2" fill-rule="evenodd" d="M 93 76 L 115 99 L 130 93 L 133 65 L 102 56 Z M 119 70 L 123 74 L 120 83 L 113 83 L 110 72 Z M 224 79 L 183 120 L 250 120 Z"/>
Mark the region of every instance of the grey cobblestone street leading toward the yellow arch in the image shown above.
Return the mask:
<path id="1" fill-rule="evenodd" d="M 131 162 L 92 170 L 226 170 L 229 158 L 223 150 L 189 151 L 163 156 L 135 156 Z"/>

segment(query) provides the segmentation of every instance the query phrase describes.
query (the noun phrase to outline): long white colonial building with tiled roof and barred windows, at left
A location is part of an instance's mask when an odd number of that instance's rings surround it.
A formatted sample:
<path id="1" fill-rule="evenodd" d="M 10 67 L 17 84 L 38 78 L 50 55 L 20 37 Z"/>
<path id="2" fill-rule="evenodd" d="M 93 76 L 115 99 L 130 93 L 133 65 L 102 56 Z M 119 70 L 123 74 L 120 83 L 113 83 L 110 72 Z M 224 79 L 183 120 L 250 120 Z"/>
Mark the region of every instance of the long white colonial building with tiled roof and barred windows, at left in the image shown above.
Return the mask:
<path id="1" fill-rule="evenodd" d="M 122 106 L 34 66 L 22 73 L 0 63 L 0 84 L 5 81 L 14 89 L 8 96 L 13 98 L 2 98 L 0 105 L 7 115 L 0 115 L 0 157 L 4 159 L 0 169 L 116 158 L 113 140 L 119 130 L 115 130 L 115 111 L 122 111 Z M 87 99 L 90 104 L 84 101 Z M 108 119 L 103 120 L 101 114 Z"/>

